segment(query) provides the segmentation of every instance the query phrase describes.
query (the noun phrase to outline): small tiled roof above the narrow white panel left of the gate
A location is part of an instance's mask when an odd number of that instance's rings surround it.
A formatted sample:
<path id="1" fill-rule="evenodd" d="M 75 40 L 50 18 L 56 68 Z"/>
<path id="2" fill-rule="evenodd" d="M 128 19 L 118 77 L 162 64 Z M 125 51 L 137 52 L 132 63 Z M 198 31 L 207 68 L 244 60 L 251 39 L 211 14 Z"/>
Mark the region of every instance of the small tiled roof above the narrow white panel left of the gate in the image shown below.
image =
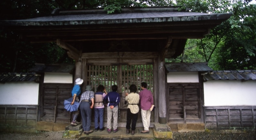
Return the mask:
<path id="1" fill-rule="evenodd" d="M 29 69 L 30 72 L 52 72 L 52 73 L 72 73 L 74 64 L 36 64 L 35 67 Z"/>

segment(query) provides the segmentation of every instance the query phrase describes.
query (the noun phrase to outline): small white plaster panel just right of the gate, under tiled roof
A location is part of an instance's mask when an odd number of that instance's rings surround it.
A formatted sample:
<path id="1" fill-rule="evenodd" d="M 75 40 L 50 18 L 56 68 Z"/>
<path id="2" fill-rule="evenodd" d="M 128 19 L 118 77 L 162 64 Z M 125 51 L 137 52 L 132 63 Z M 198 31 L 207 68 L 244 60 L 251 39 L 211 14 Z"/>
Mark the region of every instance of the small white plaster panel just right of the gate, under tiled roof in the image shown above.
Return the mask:
<path id="1" fill-rule="evenodd" d="M 167 83 L 198 83 L 198 72 L 169 72 Z"/>

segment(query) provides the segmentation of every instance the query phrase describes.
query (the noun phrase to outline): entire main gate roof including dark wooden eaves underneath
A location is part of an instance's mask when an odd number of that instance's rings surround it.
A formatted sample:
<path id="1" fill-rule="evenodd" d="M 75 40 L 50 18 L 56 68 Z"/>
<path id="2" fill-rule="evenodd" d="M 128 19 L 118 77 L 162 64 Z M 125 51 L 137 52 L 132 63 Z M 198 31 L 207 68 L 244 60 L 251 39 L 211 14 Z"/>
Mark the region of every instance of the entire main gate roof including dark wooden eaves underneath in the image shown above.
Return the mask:
<path id="1" fill-rule="evenodd" d="M 136 42 L 132 46 L 151 41 L 145 45 L 146 50 L 162 52 L 166 57 L 175 58 L 183 51 L 186 39 L 203 38 L 211 28 L 221 24 L 230 16 L 231 14 L 222 13 L 168 11 L 166 8 L 129 10 L 129 12 L 120 14 L 82 10 L 79 14 L 72 11 L 60 11 L 59 15 L 49 17 L 0 21 L 0 25 L 20 33 L 22 39 L 31 43 L 59 40 L 63 48 L 66 49 L 69 46 L 69 50 L 75 50 L 75 52 L 70 51 L 73 56 L 76 56 L 80 50 L 82 53 L 106 50 L 110 46 L 106 48 L 101 48 L 101 46 L 113 41 Z M 145 47 L 138 49 L 139 47 L 135 46 L 132 50 L 145 51 Z"/>

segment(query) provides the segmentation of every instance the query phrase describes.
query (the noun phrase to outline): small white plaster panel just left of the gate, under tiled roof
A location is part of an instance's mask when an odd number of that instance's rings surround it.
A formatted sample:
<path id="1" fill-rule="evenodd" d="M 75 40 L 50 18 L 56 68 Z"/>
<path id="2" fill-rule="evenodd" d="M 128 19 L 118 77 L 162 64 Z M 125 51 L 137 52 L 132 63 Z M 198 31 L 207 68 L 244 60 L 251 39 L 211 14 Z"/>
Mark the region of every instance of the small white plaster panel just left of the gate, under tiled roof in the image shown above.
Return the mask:
<path id="1" fill-rule="evenodd" d="M 44 83 L 73 83 L 73 76 L 69 73 L 45 73 Z"/>

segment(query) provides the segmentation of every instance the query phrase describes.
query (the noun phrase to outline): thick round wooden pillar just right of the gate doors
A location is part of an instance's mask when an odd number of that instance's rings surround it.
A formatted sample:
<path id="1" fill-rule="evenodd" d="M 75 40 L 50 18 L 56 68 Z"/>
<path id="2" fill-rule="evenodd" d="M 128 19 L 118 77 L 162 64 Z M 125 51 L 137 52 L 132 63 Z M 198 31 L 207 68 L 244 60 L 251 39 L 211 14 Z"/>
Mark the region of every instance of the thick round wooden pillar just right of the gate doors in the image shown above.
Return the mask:
<path id="1" fill-rule="evenodd" d="M 159 107 L 159 123 L 167 123 L 166 116 L 166 87 L 165 87 L 165 69 L 164 60 L 158 57 L 158 107 Z"/>

